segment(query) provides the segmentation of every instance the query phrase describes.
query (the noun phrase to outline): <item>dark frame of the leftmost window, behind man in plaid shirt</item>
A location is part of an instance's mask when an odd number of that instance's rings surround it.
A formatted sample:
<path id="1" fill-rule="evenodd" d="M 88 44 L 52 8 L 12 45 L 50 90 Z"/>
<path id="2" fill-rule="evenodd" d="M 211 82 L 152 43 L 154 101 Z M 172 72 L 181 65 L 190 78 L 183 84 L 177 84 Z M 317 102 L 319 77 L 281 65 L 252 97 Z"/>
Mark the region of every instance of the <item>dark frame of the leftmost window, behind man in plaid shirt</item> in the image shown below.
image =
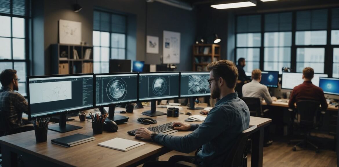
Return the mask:
<path id="1" fill-rule="evenodd" d="M 10 2 L 10 14 L 5 14 L 5 13 L 0 13 L 0 16 L 7 16 L 7 17 L 10 17 L 11 18 L 11 37 L 2 37 L 1 38 L 10 38 L 11 39 L 11 59 L 0 59 L 0 62 L 11 62 L 12 63 L 12 69 L 14 69 L 14 64 L 16 62 L 25 62 L 25 71 L 26 71 L 26 76 L 29 76 L 31 75 L 31 67 L 30 67 L 30 60 L 29 60 L 29 57 L 30 57 L 30 32 L 29 30 L 31 30 L 31 28 L 29 27 L 30 26 L 30 22 L 31 22 L 31 19 L 32 17 L 29 15 L 29 13 L 31 12 L 30 10 L 30 7 L 31 6 L 31 0 L 26 0 L 26 3 L 25 3 L 25 12 L 26 14 L 24 16 L 21 16 L 21 15 L 15 15 L 13 14 L 13 0 L 9 0 Z M 24 38 L 18 38 L 18 37 L 13 37 L 13 17 L 16 17 L 16 18 L 23 18 L 24 19 L 24 26 L 25 26 L 25 30 L 24 30 Z M 24 53 L 25 53 L 25 56 L 24 56 L 24 59 L 13 59 L 13 39 L 24 39 L 24 42 L 25 42 L 25 49 L 24 49 Z M 21 93 L 23 96 L 27 96 L 27 81 L 26 81 L 26 77 L 25 78 L 22 78 L 19 83 L 23 83 L 24 84 L 24 87 L 25 87 L 25 92 L 24 93 Z"/>

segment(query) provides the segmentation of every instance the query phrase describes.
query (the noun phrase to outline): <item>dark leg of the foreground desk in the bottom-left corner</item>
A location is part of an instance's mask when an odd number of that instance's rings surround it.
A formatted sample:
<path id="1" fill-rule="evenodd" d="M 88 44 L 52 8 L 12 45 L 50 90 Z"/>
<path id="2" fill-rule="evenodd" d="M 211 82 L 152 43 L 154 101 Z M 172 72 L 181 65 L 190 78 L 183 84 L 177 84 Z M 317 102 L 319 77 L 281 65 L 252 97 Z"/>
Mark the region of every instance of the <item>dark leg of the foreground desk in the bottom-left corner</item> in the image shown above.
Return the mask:
<path id="1" fill-rule="evenodd" d="M 5 145 L 1 145 L 1 159 L 2 166 L 18 166 L 18 154 Z"/>

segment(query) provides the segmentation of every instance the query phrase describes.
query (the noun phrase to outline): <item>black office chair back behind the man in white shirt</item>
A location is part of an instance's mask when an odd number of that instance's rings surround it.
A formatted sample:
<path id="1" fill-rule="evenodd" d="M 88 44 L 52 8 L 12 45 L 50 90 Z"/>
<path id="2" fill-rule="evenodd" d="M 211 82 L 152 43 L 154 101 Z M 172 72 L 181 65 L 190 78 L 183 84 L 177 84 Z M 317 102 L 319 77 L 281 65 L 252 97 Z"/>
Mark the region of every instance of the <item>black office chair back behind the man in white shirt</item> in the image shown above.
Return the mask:
<path id="1" fill-rule="evenodd" d="M 246 103 L 248 109 L 250 110 L 251 116 L 263 117 L 264 112 L 268 111 L 268 110 L 262 111 L 261 101 L 260 98 L 258 97 L 239 97 L 239 98 Z"/>

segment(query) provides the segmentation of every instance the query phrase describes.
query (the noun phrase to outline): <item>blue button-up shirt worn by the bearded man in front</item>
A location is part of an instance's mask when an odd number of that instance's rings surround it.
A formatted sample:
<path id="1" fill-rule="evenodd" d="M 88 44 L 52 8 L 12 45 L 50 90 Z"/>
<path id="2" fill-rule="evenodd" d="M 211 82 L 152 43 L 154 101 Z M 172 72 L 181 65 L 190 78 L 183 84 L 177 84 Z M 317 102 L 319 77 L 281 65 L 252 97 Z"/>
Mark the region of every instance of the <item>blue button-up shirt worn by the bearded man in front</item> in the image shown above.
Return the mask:
<path id="1" fill-rule="evenodd" d="M 250 111 L 238 93 L 220 99 L 200 125 L 191 124 L 185 136 L 157 134 L 154 141 L 170 149 L 190 153 L 202 146 L 197 156 L 202 166 L 222 166 L 238 135 L 250 125 Z"/>

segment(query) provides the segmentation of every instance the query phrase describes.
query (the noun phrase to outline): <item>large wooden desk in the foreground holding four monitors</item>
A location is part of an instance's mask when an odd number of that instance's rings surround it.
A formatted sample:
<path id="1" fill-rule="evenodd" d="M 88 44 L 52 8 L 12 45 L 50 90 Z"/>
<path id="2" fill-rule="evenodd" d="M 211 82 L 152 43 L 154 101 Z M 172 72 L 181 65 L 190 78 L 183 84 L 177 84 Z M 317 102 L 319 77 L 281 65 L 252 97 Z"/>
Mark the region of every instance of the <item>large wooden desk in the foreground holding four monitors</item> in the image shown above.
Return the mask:
<path id="1" fill-rule="evenodd" d="M 122 110 L 116 108 L 116 111 Z M 122 152 L 114 149 L 100 147 L 97 144 L 110 140 L 115 137 L 125 138 L 128 140 L 137 140 L 134 136 L 128 135 L 127 131 L 139 127 L 149 127 L 137 123 L 137 118 L 147 117 L 141 113 L 149 110 L 134 110 L 134 113 L 122 114 L 129 117 L 129 122 L 119 125 L 118 132 L 103 132 L 95 134 L 96 140 L 87 142 L 74 147 L 66 148 L 51 143 L 54 138 L 64 137 L 75 133 L 93 135 L 92 124 L 85 122 L 67 122 L 67 124 L 82 126 L 78 129 L 66 133 L 58 133 L 48 130 L 47 142 L 36 143 L 34 131 L 22 132 L 18 134 L 0 137 L 2 149 L 3 166 L 136 166 L 145 161 L 153 159 L 171 150 L 156 143 L 146 141 L 147 144 L 137 147 L 133 150 Z M 164 108 L 157 108 L 158 111 L 165 112 Z M 187 112 L 186 109 L 180 112 Z M 199 111 L 190 111 L 198 114 Z M 120 114 L 120 113 L 119 113 Z M 180 114 L 179 117 L 167 117 L 166 115 L 153 117 L 158 120 L 158 125 L 184 120 L 188 115 Z M 76 118 L 76 117 L 75 117 Z M 76 118 L 75 120 L 79 120 Z M 253 134 L 252 148 L 252 166 L 261 167 L 263 157 L 263 127 L 267 126 L 272 120 L 267 118 L 251 117 L 250 125 L 257 125 L 258 128 Z M 201 122 L 196 122 L 201 123 Z M 50 124 L 49 126 L 58 126 Z M 179 131 L 171 135 L 186 135 L 188 131 Z M 19 163 L 19 164 L 18 164 Z"/>

